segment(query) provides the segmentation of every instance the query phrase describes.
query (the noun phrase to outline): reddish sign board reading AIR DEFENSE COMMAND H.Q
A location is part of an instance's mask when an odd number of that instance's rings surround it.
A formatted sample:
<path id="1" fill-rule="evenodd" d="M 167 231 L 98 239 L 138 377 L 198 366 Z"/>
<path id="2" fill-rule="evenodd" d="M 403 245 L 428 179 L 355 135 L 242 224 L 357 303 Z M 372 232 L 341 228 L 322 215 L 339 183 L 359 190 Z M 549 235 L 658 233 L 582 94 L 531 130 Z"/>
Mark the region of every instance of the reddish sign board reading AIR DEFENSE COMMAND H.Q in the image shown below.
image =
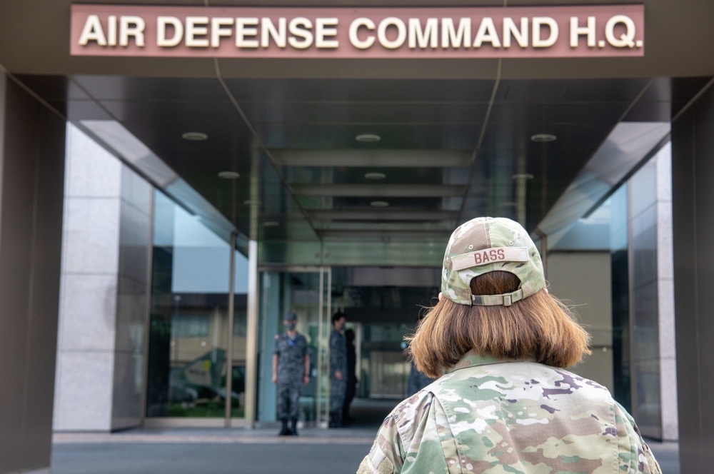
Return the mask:
<path id="1" fill-rule="evenodd" d="M 643 5 L 72 5 L 74 56 L 477 59 L 644 55 Z"/>

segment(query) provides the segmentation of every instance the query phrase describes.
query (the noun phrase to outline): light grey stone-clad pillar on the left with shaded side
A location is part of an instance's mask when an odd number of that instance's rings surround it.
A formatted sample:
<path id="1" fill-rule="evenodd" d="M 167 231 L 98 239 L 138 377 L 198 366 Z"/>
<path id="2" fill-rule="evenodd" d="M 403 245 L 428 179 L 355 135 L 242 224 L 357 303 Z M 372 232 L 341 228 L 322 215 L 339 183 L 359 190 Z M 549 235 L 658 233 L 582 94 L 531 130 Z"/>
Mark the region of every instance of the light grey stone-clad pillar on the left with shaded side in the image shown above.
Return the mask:
<path id="1" fill-rule="evenodd" d="M 144 418 L 152 188 L 70 126 L 54 430 Z"/>

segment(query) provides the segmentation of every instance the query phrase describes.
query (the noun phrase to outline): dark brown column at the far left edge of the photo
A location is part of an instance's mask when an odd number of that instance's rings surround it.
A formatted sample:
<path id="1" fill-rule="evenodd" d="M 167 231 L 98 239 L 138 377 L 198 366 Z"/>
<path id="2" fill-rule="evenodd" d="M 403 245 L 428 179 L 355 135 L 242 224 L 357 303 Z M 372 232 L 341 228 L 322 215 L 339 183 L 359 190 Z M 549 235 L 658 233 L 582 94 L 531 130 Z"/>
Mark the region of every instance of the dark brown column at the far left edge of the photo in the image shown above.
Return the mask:
<path id="1" fill-rule="evenodd" d="M 0 73 L 0 473 L 49 473 L 64 119 Z"/>

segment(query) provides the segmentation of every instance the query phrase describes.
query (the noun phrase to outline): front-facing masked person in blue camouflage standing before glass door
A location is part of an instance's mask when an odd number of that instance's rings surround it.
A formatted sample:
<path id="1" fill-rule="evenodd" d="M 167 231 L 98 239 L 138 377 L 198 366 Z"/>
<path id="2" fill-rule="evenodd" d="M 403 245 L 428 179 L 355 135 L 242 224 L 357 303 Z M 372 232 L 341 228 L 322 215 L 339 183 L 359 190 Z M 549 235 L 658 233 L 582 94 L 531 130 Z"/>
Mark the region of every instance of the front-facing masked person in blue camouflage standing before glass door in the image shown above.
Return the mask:
<path id="1" fill-rule="evenodd" d="M 278 435 L 298 435 L 300 394 L 303 385 L 310 381 L 310 355 L 308 342 L 296 330 L 298 316 L 288 313 L 283 320 L 285 332 L 275 338 L 273 350 L 273 383 L 278 384 L 278 418 L 283 427 Z M 288 420 L 290 428 L 288 428 Z"/>

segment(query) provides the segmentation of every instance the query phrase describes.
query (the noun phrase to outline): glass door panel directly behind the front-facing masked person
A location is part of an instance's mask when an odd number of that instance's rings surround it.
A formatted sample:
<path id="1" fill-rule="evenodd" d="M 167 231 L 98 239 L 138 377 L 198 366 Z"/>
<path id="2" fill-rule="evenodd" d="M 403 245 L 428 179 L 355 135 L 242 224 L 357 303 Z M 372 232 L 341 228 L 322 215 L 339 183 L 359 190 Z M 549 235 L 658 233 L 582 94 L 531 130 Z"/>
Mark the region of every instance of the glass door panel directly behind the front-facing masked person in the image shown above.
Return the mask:
<path id="1" fill-rule="evenodd" d="M 298 333 L 310 353 L 310 382 L 303 386 L 299 420 L 326 426 L 328 402 L 328 335 L 331 317 L 331 268 L 261 268 L 258 273 L 258 424 L 276 419 L 276 385 L 272 358 L 276 336 L 287 313 L 298 315 Z"/>

